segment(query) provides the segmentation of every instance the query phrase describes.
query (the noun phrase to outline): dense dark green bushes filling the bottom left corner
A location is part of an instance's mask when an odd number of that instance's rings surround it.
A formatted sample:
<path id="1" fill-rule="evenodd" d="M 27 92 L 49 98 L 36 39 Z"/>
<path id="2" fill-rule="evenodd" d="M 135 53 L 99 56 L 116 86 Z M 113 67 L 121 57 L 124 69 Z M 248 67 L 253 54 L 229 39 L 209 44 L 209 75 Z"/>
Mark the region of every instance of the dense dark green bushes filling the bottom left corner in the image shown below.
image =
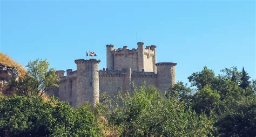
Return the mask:
<path id="1" fill-rule="evenodd" d="M 88 107 L 72 109 L 52 98 L 13 95 L 0 100 L 0 136 L 97 136 L 100 129 Z"/>

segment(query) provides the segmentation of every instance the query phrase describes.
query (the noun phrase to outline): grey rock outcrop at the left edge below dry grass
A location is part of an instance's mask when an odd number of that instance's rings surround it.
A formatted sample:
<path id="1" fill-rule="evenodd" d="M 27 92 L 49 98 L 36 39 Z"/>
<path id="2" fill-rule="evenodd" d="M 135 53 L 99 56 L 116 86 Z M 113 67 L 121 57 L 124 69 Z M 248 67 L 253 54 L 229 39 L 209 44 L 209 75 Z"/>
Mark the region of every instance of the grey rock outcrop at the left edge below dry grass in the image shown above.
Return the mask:
<path id="1" fill-rule="evenodd" d="M 19 71 L 15 67 L 0 63 L 0 93 L 9 94 L 13 91 L 12 87 L 8 86 L 8 82 L 18 78 L 18 74 Z"/>

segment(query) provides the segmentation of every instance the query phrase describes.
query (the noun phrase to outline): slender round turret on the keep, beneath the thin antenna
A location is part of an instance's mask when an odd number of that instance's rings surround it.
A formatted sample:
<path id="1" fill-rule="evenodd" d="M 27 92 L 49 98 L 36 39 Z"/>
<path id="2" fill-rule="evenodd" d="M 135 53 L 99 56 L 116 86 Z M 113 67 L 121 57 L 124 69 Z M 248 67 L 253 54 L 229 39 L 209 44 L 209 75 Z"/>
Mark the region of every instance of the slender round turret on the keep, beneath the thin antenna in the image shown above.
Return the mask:
<path id="1" fill-rule="evenodd" d="M 144 69 L 144 43 L 143 42 L 138 42 L 137 43 L 138 48 L 138 71 L 142 71 Z"/>

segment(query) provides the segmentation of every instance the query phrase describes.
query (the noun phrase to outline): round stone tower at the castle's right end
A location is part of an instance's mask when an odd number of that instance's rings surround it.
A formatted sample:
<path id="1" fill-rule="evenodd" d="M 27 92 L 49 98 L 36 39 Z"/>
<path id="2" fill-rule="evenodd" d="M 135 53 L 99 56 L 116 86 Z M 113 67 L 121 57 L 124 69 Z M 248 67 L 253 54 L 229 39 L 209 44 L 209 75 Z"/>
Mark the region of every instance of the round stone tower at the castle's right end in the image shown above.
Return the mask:
<path id="1" fill-rule="evenodd" d="M 177 63 L 161 62 L 157 66 L 157 87 L 163 93 L 175 84 L 175 66 Z"/>

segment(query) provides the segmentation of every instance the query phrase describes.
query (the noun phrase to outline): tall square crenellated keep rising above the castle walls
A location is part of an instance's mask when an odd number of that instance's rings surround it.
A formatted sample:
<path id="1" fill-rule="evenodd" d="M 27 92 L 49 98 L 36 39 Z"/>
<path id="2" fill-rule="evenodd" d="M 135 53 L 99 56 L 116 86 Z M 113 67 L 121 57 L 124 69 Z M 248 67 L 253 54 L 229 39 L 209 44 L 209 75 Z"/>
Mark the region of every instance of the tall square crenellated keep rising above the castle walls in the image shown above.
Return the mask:
<path id="1" fill-rule="evenodd" d="M 107 68 L 109 70 L 122 70 L 132 68 L 132 71 L 151 71 L 156 73 L 156 46 L 146 46 L 138 42 L 137 49 L 129 49 L 127 46 L 114 49 L 114 45 L 106 45 Z"/>

